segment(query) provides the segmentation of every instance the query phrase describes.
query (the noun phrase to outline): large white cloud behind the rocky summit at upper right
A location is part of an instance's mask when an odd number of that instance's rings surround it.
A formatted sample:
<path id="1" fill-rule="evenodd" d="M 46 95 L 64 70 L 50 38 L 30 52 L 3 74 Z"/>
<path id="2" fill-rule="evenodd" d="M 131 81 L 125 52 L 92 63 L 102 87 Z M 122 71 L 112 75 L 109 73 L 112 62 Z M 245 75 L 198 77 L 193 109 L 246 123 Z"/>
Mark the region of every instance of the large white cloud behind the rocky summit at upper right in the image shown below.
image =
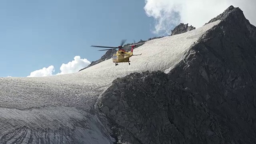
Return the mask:
<path id="1" fill-rule="evenodd" d="M 230 5 L 239 7 L 250 23 L 256 26 L 256 0 L 145 0 L 145 3 L 147 16 L 156 20 L 156 34 L 170 34 L 180 23 L 201 27 Z"/>

